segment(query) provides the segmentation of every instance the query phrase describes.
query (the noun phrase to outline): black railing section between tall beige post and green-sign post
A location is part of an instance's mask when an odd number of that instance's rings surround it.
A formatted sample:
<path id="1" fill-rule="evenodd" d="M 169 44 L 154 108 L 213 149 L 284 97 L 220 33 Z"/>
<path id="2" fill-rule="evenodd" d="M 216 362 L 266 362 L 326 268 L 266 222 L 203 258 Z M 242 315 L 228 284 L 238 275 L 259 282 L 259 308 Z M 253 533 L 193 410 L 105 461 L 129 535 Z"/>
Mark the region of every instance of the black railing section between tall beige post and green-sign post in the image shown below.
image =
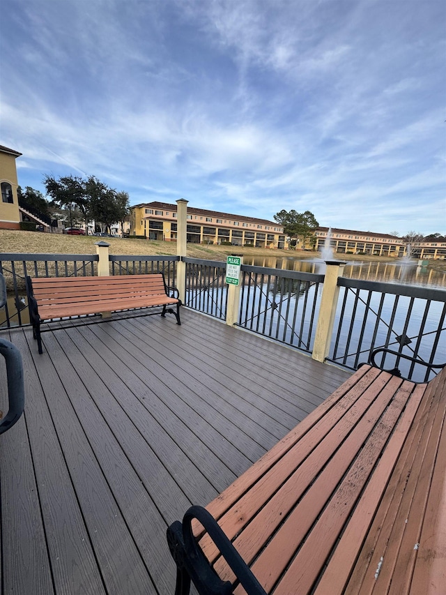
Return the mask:
<path id="1" fill-rule="evenodd" d="M 186 263 L 185 306 L 224 320 L 228 300 L 224 283 L 226 263 L 184 258 Z"/>

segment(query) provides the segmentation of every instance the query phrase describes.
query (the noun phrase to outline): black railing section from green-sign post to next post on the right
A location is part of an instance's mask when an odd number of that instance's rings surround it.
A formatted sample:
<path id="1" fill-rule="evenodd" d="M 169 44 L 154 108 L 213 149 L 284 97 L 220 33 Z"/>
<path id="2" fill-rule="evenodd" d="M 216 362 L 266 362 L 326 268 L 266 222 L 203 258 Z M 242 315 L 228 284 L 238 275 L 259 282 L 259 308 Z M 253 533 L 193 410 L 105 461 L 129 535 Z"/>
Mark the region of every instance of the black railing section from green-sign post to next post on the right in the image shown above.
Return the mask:
<path id="1" fill-rule="evenodd" d="M 239 326 L 311 352 L 324 276 L 242 265 Z"/>

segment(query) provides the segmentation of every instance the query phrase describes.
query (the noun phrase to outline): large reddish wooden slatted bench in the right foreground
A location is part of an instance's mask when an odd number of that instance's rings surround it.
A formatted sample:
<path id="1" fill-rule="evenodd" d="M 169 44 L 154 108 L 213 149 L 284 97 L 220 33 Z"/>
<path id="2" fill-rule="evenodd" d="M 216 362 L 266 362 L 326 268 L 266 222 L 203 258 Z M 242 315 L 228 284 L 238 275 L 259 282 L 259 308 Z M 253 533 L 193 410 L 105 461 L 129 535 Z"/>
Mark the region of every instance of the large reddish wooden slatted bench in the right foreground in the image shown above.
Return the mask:
<path id="1" fill-rule="evenodd" d="M 446 368 L 415 384 L 362 366 L 169 527 L 177 595 L 191 578 L 203 594 L 445 594 L 445 414 Z"/>

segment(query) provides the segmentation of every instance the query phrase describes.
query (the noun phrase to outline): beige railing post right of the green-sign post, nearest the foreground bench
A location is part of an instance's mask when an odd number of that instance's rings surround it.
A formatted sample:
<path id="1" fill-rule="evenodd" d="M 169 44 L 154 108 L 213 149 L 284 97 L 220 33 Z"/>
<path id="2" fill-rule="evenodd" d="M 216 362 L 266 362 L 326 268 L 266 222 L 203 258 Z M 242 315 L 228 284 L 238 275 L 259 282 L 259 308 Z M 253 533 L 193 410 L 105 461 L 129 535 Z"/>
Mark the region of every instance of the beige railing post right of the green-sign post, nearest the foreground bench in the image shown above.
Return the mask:
<path id="1" fill-rule="evenodd" d="M 332 340 L 334 315 L 336 314 L 339 287 L 338 277 L 344 272 L 345 262 L 326 261 L 327 269 L 323 282 L 321 306 L 319 307 L 318 323 L 314 336 L 312 359 L 325 361 Z"/>

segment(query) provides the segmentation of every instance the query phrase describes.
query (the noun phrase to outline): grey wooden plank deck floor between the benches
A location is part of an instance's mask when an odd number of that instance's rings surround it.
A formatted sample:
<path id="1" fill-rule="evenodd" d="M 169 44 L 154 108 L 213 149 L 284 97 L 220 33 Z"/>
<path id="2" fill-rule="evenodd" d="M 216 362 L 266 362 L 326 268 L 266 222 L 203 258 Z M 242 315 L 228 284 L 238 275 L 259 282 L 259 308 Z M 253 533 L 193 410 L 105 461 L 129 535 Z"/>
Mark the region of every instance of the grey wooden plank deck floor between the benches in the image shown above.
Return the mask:
<path id="1" fill-rule="evenodd" d="M 25 414 L 0 438 L 3 593 L 173 594 L 167 525 L 350 375 L 181 316 L 65 325 L 43 334 L 40 356 L 30 329 L 2 332 L 26 384 Z"/>

